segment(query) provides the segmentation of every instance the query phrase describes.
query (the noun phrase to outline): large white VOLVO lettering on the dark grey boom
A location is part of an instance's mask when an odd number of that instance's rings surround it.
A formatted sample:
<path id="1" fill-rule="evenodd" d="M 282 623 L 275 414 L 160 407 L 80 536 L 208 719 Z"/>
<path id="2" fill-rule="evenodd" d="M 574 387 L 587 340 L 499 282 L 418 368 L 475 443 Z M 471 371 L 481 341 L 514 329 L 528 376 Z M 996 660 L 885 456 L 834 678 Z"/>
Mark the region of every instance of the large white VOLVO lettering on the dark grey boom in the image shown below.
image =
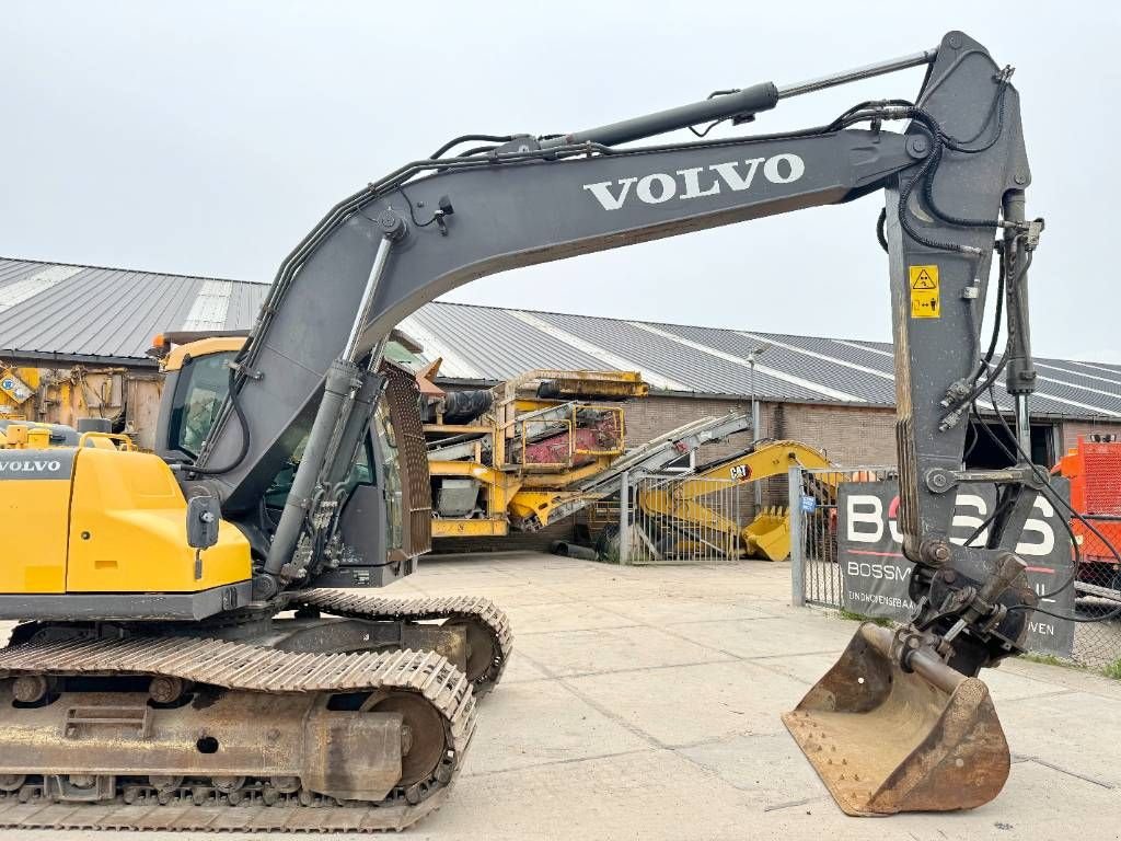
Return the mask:
<path id="1" fill-rule="evenodd" d="M 595 196 L 603 210 L 619 210 L 632 196 L 643 204 L 661 204 L 675 197 L 704 198 L 719 195 L 725 188 L 741 193 L 751 188 L 759 172 L 771 184 L 790 184 L 805 174 L 806 164 L 793 153 L 782 153 L 769 158 L 729 160 L 706 167 L 678 169 L 675 173 L 650 173 L 584 184 L 583 187 Z"/>

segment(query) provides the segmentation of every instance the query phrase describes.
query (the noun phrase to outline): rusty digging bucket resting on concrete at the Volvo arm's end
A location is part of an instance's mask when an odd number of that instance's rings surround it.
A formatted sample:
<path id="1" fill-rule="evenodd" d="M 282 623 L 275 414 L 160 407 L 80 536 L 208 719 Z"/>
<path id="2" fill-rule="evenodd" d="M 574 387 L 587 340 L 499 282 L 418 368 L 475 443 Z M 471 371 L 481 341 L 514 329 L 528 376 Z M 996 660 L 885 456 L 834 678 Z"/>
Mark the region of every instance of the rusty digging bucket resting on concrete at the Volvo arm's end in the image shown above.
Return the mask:
<path id="1" fill-rule="evenodd" d="M 862 625 L 784 723 L 846 814 L 988 803 L 1011 760 L 989 688 L 929 649 L 916 651 L 905 672 L 891 655 L 893 638 Z"/>

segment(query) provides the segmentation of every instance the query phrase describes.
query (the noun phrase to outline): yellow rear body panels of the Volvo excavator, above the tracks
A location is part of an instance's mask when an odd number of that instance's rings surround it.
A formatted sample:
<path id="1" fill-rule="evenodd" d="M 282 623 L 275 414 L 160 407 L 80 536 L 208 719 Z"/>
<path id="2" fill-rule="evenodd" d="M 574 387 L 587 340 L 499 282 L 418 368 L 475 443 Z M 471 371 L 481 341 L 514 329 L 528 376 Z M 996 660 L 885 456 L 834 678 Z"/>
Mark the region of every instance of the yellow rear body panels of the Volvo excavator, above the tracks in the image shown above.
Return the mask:
<path id="1" fill-rule="evenodd" d="M 231 524 L 196 557 L 186 500 L 161 459 L 89 438 L 3 463 L 4 521 L 31 527 L 12 529 L 0 593 L 189 593 L 250 577 L 249 543 Z"/>

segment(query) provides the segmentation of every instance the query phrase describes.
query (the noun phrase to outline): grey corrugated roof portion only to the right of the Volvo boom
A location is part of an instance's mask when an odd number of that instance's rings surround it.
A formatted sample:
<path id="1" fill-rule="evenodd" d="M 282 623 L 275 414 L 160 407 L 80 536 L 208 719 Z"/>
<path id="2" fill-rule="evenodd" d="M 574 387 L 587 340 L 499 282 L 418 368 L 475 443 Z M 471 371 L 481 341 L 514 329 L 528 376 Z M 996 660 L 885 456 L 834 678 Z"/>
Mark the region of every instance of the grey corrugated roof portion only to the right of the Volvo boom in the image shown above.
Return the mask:
<path id="1" fill-rule="evenodd" d="M 520 324 L 518 324 L 520 322 Z M 508 330 L 507 325 L 516 325 Z M 528 327 L 528 330 L 526 329 Z M 889 342 L 721 330 L 683 324 L 601 318 L 562 313 L 437 302 L 406 318 L 428 359 L 442 357 L 448 377 L 504 379 L 527 368 L 641 370 L 656 388 L 701 395 L 751 391 L 749 354 L 757 354 L 754 390 L 763 399 L 810 403 L 895 404 L 895 362 Z M 495 348 L 495 335 L 504 336 Z M 573 355 L 575 354 L 575 355 Z M 998 358 L 999 361 L 999 358 Z M 1031 409 L 1054 417 L 1121 423 L 1121 366 L 1039 359 Z M 667 385 L 668 383 L 668 385 Z M 991 408 L 988 396 L 979 400 Z M 997 388 L 997 404 L 1012 401 Z"/>

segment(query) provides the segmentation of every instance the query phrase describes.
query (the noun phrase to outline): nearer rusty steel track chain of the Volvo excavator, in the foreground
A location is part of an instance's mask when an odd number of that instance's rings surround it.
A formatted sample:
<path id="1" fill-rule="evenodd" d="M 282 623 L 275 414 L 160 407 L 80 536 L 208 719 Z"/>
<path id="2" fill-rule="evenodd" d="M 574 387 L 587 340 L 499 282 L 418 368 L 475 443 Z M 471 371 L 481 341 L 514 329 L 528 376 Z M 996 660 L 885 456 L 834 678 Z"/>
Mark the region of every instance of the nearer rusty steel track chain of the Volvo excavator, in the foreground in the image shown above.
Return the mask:
<path id="1" fill-rule="evenodd" d="M 195 831 L 374 832 L 401 830 L 443 803 L 475 726 L 471 683 L 435 651 L 297 654 L 242 643 L 182 637 L 26 643 L 0 649 L 0 678 L 21 674 L 165 675 L 233 691 L 274 694 L 400 690 L 423 695 L 444 719 L 451 737 L 448 759 L 426 783 L 396 792 L 379 804 L 276 805 L 250 800 L 232 805 L 222 797 L 166 805 L 112 802 L 21 802 L 20 793 L 0 797 L 3 829 L 104 829 Z M 2 743 L 2 737 L 0 737 Z M 24 798 L 26 800 L 26 797 Z"/>

